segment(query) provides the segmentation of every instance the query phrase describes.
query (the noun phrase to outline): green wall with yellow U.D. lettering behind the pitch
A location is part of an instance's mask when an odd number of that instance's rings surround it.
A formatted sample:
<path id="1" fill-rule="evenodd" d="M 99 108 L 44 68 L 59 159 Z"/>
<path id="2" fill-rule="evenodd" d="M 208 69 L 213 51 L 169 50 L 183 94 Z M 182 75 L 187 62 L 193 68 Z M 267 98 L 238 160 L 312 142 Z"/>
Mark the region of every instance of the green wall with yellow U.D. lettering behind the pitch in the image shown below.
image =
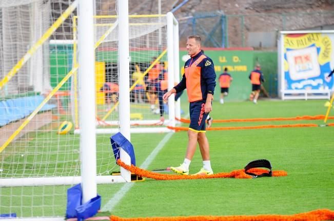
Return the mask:
<path id="1" fill-rule="evenodd" d="M 97 61 L 116 62 L 117 51 L 96 52 Z M 72 68 L 72 47 L 54 46 L 50 47 L 50 75 L 51 85 L 54 87 L 60 82 Z M 219 100 L 220 86 L 218 82 L 219 75 L 224 68 L 229 69 L 233 77 L 230 86 L 229 95 L 226 101 L 242 101 L 249 98 L 251 84 L 248 79 L 249 73 L 253 70 L 256 63 L 260 63 L 266 82 L 264 83 L 266 91 L 271 97 L 277 97 L 277 52 L 261 52 L 247 50 L 208 50 L 205 54 L 209 56 L 217 74 L 217 86 L 215 87 L 214 99 Z M 135 62 L 149 62 L 152 57 L 158 56 L 157 51 L 131 52 L 131 56 L 136 58 Z M 186 50 L 180 50 L 180 68 L 184 62 L 182 57 L 187 55 Z M 166 55 L 163 60 L 166 60 Z M 70 90 L 70 81 L 66 82 L 61 90 Z"/>

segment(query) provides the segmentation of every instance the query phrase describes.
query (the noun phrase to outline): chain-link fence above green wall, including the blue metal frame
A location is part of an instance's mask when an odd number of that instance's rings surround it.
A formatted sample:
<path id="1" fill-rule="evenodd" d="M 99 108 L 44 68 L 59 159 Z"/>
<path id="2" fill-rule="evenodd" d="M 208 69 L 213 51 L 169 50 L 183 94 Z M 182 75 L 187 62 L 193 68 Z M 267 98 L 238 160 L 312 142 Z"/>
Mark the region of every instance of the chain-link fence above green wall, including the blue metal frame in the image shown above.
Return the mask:
<path id="1" fill-rule="evenodd" d="M 215 11 L 183 17 L 179 23 L 181 46 L 188 35 L 198 34 L 203 38 L 203 47 L 274 50 L 279 31 L 334 29 L 334 11 L 251 15 Z"/>

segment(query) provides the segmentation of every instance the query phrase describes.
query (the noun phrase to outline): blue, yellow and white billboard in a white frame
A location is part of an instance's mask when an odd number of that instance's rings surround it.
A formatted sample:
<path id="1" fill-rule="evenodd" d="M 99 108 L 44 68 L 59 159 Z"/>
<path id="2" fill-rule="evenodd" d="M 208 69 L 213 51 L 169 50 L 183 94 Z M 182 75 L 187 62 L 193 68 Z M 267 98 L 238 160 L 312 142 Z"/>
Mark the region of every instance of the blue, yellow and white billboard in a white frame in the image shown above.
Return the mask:
<path id="1" fill-rule="evenodd" d="M 279 96 L 329 99 L 334 78 L 334 31 L 281 31 L 278 42 Z"/>

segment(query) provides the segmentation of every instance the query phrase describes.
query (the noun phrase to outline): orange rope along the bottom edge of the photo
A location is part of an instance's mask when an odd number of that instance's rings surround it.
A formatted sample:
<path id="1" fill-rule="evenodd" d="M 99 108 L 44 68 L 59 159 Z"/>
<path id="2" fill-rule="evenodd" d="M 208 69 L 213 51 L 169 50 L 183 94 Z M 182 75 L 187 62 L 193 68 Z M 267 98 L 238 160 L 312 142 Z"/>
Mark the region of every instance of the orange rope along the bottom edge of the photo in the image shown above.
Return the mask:
<path id="1" fill-rule="evenodd" d="M 174 217 L 146 217 L 146 218 L 121 218 L 111 215 L 111 221 L 320 221 L 334 220 L 334 211 L 329 209 L 313 210 L 292 215 L 235 215 L 235 216 L 174 216 Z"/>

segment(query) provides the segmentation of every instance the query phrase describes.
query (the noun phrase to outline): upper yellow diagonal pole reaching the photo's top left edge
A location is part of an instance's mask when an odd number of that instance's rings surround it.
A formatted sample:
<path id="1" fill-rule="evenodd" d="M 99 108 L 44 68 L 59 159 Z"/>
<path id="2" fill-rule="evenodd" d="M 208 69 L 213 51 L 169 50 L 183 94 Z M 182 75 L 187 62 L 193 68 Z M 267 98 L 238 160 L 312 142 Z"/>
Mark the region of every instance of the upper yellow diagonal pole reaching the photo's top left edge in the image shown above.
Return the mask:
<path id="1" fill-rule="evenodd" d="M 14 65 L 8 74 L 0 81 L 0 90 L 3 86 L 22 68 L 22 66 L 30 59 L 35 51 L 43 45 L 43 43 L 51 36 L 51 34 L 63 23 L 63 21 L 74 11 L 77 6 L 77 0 L 74 1 L 66 11 L 52 24 L 50 28 L 38 39 L 36 43 L 28 50 L 28 52 Z"/>

